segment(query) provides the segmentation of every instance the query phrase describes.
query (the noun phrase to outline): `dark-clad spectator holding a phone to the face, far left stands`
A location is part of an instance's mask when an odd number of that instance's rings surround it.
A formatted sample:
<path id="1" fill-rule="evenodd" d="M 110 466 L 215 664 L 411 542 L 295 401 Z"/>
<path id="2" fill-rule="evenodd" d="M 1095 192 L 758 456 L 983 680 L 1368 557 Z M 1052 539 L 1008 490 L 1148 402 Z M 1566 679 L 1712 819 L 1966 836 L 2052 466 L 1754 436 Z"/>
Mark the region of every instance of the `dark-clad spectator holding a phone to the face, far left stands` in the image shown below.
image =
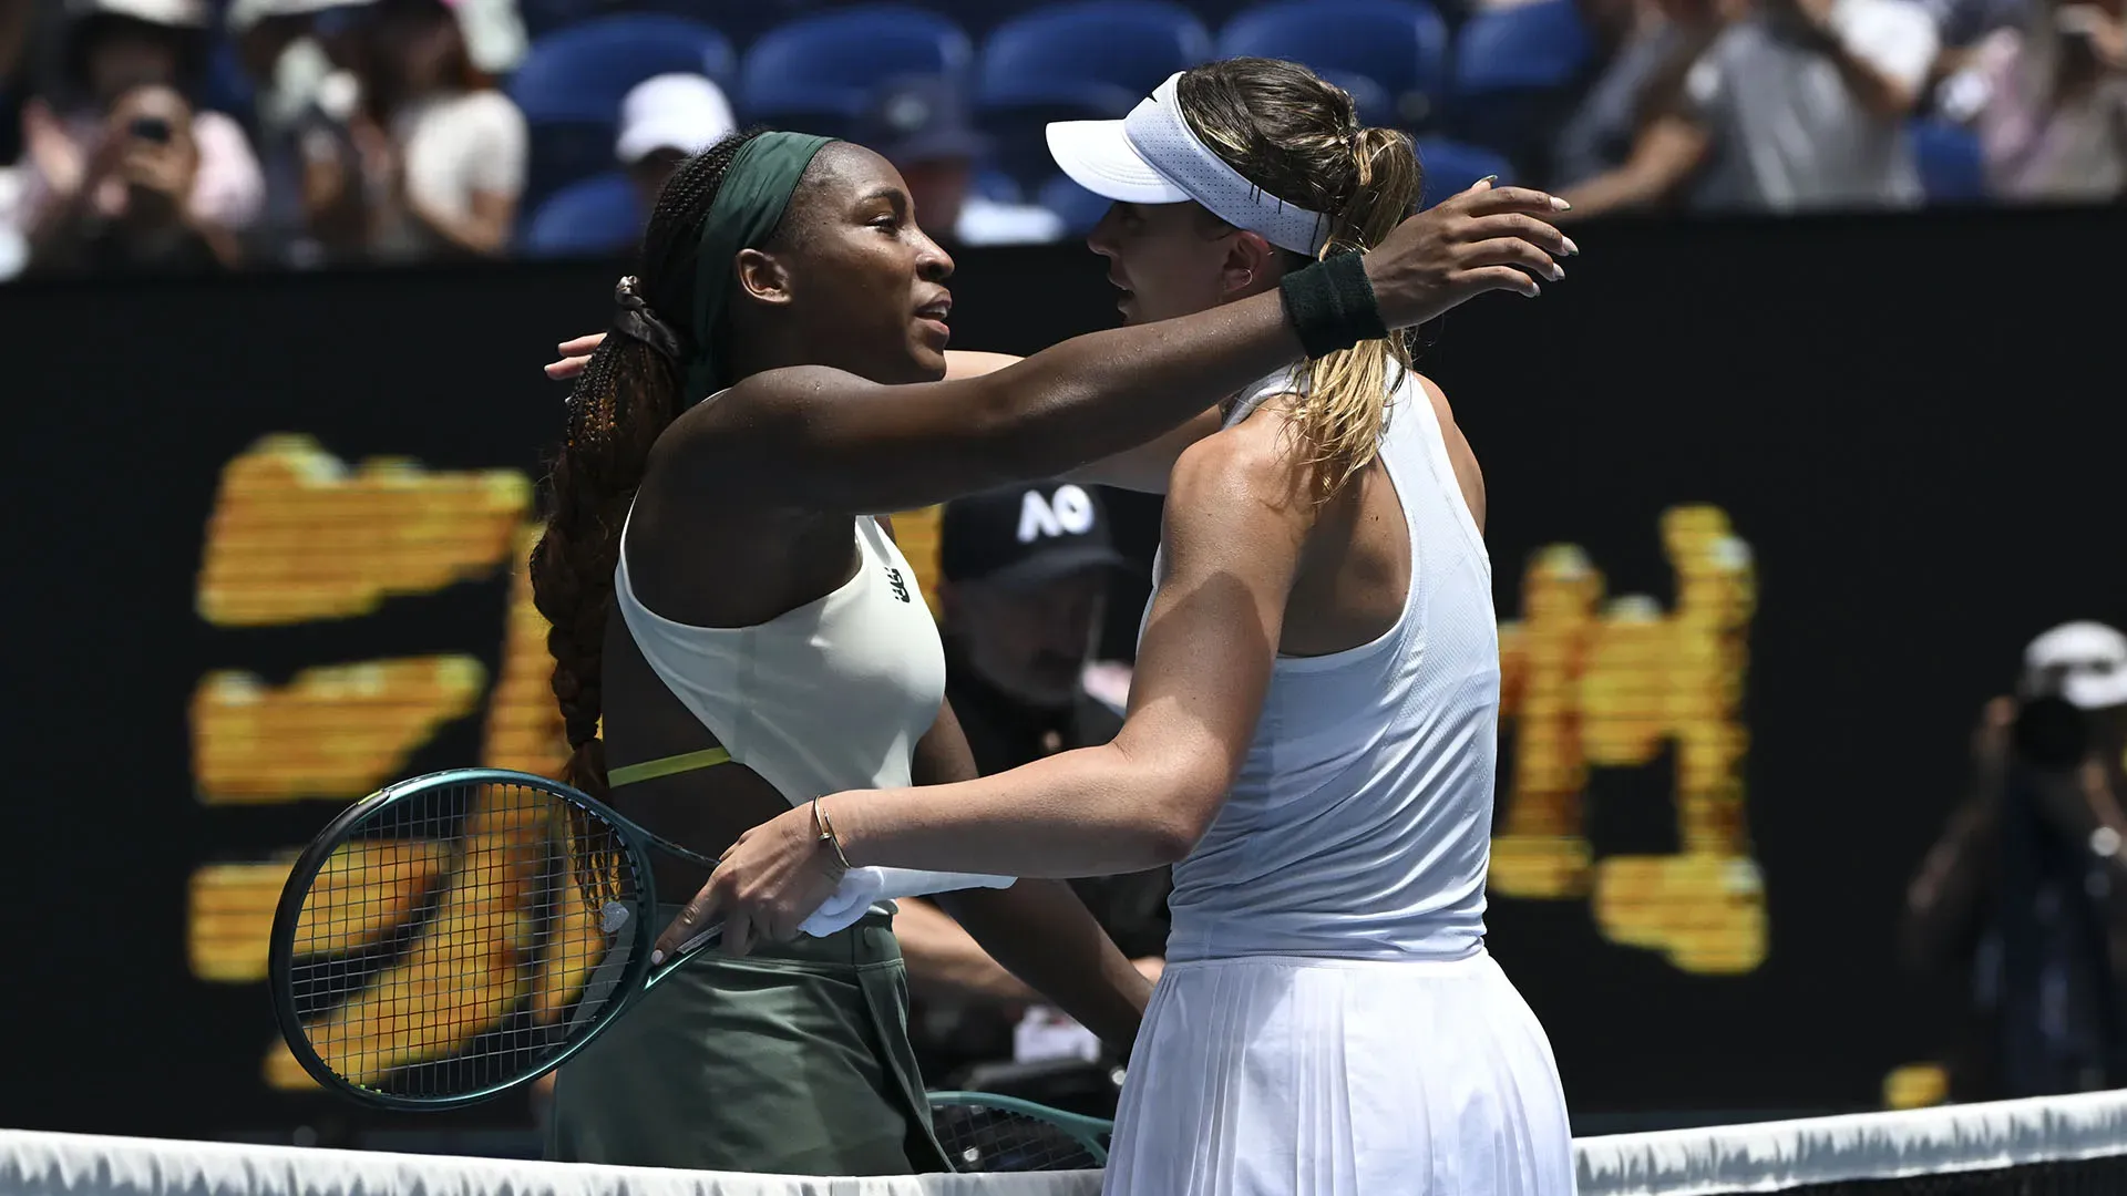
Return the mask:
<path id="1" fill-rule="evenodd" d="M 119 96 L 81 187 L 49 213 L 32 275 L 213 272 L 236 262 L 225 230 L 200 223 L 187 196 L 200 175 L 191 106 L 170 87 Z M 117 204 L 96 196 L 117 187 Z"/>

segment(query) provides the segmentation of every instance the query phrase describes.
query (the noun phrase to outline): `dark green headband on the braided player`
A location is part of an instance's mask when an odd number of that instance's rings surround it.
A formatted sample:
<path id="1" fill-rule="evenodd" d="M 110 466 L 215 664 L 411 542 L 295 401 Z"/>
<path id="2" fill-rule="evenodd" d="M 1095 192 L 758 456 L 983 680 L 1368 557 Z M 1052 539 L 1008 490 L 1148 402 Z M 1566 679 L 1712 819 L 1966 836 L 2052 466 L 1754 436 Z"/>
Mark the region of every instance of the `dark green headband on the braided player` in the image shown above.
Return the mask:
<path id="1" fill-rule="evenodd" d="M 759 249 L 783 223 L 783 209 L 789 206 L 798 179 L 830 140 L 834 138 L 802 132 L 764 132 L 738 147 L 725 168 L 696 247 L 689 400 L 700 402 L 730 385 L 725 362 L 717 360 L 715 332 L 732 289 L 732 262 L 740 249 Z"/>

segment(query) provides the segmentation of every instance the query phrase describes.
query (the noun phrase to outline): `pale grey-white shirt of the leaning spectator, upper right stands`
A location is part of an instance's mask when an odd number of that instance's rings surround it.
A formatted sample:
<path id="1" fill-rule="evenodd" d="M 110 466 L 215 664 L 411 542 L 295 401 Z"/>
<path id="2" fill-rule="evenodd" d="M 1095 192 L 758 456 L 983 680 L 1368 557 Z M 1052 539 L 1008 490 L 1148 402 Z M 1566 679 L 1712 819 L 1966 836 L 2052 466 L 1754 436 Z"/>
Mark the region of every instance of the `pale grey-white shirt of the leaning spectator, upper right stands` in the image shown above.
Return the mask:
<path id="1" fill-rule="evenodd" d="M 1912 87 L 1927 79 L 1938 34 L 1912 0 L 1836 0 L 1833 36 Z M 1765 17 L 1725 30 L 1685 77 L 1685 96 L 1714 151 L 1693 189 L 1697 209 L 1880 209 L 1923 200 L 1904 121 L 1853 96 L 1838 64 Z"/>

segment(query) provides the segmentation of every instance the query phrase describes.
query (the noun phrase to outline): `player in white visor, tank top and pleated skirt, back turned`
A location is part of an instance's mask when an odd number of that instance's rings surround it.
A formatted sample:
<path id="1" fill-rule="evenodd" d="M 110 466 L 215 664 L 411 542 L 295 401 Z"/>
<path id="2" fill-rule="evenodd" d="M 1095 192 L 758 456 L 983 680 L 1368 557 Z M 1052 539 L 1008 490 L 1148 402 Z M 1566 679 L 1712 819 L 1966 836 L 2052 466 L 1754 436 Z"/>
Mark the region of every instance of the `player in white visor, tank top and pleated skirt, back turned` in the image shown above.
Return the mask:
<path id="1" fill-rule="evenodd" d="M 1129 332 L 1280 287 L 1306 323 L 1312 260 L 1412 228 L 1410 143 L 1359 128 L 1293 64 L 1202 66 L 1049 143 L 1115 200 L 1091 245 Z M 1110 745 L 778 815 L 659 947 L 719 921 L 732 943 L 785 941 L 851 866 L 1172 864 L 1108 1196 L 1565 1196 L 1551 1047 L 1485 951 L 1500 647 L 1483 481 L 1402 336 L 1310 336 L 1310 364 L 1268 362 L 1172 468 Z"/>

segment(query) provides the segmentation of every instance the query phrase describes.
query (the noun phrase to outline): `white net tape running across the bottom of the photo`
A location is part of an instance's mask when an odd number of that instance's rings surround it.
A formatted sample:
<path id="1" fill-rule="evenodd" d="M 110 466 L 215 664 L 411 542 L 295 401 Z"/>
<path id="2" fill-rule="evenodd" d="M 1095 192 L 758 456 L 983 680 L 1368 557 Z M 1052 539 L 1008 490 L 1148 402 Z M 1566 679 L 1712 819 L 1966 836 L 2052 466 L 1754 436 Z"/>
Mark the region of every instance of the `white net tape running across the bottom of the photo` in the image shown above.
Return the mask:
<path id="1" fill-rule="evenodd" d="M 1578 1196 L 2127 1196 L 2127 1092 L 1580 1139 Z M 1098 1170 L 795 1179 L 0 1130 L 0 1196 L 1095 1196 Z"/>

